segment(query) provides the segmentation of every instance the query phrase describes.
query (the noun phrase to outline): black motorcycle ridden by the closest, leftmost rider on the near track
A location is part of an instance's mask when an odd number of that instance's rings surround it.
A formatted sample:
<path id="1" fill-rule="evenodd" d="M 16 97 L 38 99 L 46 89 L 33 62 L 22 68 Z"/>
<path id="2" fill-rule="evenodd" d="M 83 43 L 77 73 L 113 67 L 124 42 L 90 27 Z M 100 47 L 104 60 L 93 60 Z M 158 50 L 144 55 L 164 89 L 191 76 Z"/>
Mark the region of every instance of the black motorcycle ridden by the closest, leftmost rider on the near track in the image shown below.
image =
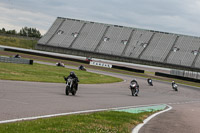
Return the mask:
<path id="1" fill-rule="evenodd" d="M 73 78 L 66 78 L 64 77 L 66 81 L 66 89 L 65 89 L 65 94 L 69 95 L 69 93 L 72 93 L 72 95 L 76 95 L 77 87 L 76 87 L 76 79 Z"/>

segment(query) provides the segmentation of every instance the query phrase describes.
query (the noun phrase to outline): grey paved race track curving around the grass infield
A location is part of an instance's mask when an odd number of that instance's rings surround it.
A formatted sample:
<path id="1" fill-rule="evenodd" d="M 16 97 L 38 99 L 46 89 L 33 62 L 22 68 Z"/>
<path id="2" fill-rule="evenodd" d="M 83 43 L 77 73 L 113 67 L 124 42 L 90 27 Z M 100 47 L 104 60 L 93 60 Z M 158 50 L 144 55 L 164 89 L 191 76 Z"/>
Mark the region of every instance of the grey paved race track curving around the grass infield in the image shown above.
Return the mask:
<path id="1" fill-rule="evenodd" d="M 137 78 L 140 93 L 138 97 L 133 97 L 128 89 L 133 76 L 106 74 L 123 78 L 124 82 L 80 84 L 76 96 L 65 95 L 65 84 L 0 80 L 0 121 L 83 110 L 165 103 L 173 109 L 152 119 L 141 129 L 141 132 L 163 132 L 161 127 L 169 128 L 167 126 L 169 123 L 174 128 L 188 126 L 189 128 L 183 132 L 191 129 L 194 129 L 194 132 L 200 130 L 197 124 L 200 123 L 199 88 L 179 85 L 179 91 L 175 92 L 171 89 L 170 83 L 153 81 L 152 87 L 147 84 L 146 79 Z M 157 127 L 158 124 L 162 125 L 159 125 L 160 129 Z"/>

